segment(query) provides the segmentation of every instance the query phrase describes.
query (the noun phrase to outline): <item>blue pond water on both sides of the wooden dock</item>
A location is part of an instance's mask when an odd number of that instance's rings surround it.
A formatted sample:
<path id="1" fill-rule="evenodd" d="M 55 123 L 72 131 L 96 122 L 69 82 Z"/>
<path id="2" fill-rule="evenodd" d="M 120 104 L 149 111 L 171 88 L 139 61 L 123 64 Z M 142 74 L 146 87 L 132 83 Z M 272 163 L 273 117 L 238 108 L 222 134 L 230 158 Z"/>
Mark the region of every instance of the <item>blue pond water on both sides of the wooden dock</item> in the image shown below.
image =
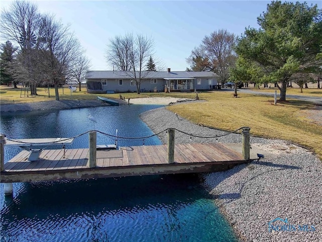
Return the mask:
<path id="1" fill-rule="evenodd" d="M 0 132 L 11 138 L 71 137 L 94 129 L 120 136 L 151 135 L 139 119 L 159 106 L 131 105 L 2 114 Z M 142 145 L 120 140 L 119 145 Z M 114 143 L 98 135 L 98 144 Z M 145 145 L 160 144 L 157 137 Z M 68 148 L 88 147 L 88 134 Z M 5 159 L 21 151 L 6 147 Z M 167 175 L 0 186 L 1 241 L 236 241 L 231 227 L 197 175 Z"/>

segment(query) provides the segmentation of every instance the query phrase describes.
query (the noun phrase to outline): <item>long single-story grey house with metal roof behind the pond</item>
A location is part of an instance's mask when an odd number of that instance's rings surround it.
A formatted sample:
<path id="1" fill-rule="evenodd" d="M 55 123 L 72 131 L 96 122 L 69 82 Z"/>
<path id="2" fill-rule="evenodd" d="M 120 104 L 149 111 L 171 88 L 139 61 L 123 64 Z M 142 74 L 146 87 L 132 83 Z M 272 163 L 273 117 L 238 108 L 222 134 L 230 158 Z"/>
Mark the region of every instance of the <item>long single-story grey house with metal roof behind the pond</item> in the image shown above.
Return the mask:
<path id="1" fill-rule="evenodd" d="M 88 92 L 136 92 L 133 71 L 89 70 L 86 73 Z M 138 72 L 136 72 L 138 75 Z M 211 71 L 142 71 L 140 92 L 180 92 L 210 90 L 218 84 Z"/>

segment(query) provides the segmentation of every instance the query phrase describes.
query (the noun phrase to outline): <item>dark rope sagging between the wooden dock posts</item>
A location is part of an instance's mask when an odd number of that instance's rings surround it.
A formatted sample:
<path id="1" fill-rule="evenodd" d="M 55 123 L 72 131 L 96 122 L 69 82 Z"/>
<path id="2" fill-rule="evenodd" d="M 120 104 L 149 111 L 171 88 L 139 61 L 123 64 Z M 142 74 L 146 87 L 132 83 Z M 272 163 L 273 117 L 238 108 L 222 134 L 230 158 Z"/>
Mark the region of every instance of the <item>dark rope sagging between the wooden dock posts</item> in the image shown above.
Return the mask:
<path id="1" fill-rule="evenodd" d="M 249 127 L 240 127 L 238 129 L 235 129 L 233 131 L 230 131 L 228 133 L 225 133 L 225 134 L 218 134 L 218 135 L 207 135 L 207 136 L 202 136 L 202 135 L 197 135 L 197 134 L 192 134 L 192 133 L 187 133 L 185 131 L 182 131 L 182 130 L 179 130 L 177 128 L 173 128 L 175 130 L 177 130 L 178 132 L 180 133 L 183 133 L 183 134 L 186 134 L 186 135 L 189 135 L 189 136 L 192 136 L 192 137 L 197 137 L 197 138 L 217 138 L 217 137 L 222 137 L 222 136 L 225 136 L 225 135 L 229 135 L 229 134 L 232 134 L 232 133 L 236 133 L 238 130 L 240 129 L 243 129 L 243 128 L 249 128 Z M 82 134 L 78 134 L 78 135 L 75 135 L 73 137 L 70 137 L 70 138 L 61 138 L 60 140 L 57 140 L 57 141 L 51 141 L 51 142 L 42 142 L 41 144 L 49 144 L 49 143 L 59 143 L 61 141 L 66 141 L 66 140 L 70 140 L 70 139 L 74 139 L 74 138 L 77 138 L 77 137 L 80 137 L 82 135 L 85 135 L 89 132 L 93 132 L 93 131 L 96 131 L 100 134 L 103 134 L 103 135 L 106 135 L 106 136 L 109 136 L 109 137 L 113 137 L 113 138 L 118 138 L 118 139 L 147 139 L 147 138 L 151 138 L 153 136 L 157 136 L 163 132 L 166 132 L 168 129 L 164 129 L 156 134 L 152 134 L 152 135 L 148 135 L 148 136 L 143 136 L 143 137 L 122 137 L 122 136 L 116 136 L 116 135 L 113 135 L 113 134 L 108 134 L 108 133 L 104 133 L 102 131 L 99 131 L 99 130 L 89 130 L 89 131 L 86 131 Z M 7 138 L 7 140 L 9 141 L 14 141 L 14 142 L 17 142 L 17 143 L 25 143 L 25 144 L 37 144 L 37 143 L 31 143 L 31 142 L 25 142 L 25 141 L 21 141 L 19 139 L 9 139 Z"/>

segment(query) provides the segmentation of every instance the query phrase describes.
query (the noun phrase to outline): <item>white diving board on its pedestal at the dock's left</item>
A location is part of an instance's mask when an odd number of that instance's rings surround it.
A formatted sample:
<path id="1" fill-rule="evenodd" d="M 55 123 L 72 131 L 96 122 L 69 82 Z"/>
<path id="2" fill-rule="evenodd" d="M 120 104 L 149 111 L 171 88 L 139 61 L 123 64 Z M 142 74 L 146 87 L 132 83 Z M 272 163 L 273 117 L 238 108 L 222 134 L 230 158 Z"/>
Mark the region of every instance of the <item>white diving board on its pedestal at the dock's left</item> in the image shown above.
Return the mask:
<path id="1" fill-rule="evenodd" d="M 39 159 L 42 149 L 33 149 L 32 146 L 52 146 L 52 145 L 70 145 L 74 138 L 36 138 L 36 139 L 16 139 L 6 140 L 7 146 L 19 146 L 30 151 L 28 160 L 33 162 Z"/>

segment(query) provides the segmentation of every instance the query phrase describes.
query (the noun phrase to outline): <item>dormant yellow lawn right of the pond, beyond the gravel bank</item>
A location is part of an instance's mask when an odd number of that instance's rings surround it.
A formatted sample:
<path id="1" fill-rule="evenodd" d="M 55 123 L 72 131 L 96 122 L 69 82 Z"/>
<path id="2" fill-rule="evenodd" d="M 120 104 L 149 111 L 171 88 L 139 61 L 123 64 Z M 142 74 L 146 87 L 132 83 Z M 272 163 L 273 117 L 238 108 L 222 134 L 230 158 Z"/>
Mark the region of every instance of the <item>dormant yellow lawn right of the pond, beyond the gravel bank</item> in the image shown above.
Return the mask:
<path id="1" fill-rule="evenodd" d="M 285 139 L 314 150 L 322 157 L 322 126 L 302 116 L 302 110 L 314 110 L 313 104 L 298 100 L 274 105 L 271 97 L 213 92 L 199 94 L 204 103 L 170 106 L 169 110 L 194 123 L 234 130 L 242 126 L 251 127 L 251 134 Z"/>

